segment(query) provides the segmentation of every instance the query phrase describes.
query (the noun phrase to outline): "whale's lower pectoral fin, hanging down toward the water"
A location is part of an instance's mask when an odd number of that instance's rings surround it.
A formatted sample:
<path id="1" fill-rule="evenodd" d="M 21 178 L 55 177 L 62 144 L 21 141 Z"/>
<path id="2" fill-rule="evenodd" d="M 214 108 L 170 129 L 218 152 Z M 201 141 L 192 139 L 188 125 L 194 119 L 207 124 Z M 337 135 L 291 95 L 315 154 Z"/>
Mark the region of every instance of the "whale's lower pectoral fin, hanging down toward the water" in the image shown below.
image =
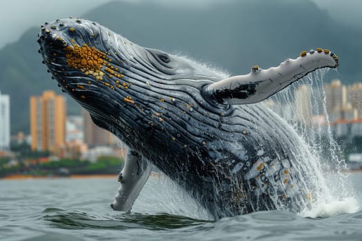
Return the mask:
<path id="1" fill-rule="evenodd" d="M 128 149 L 125 163 L 119 174 L 121 187 L 111 205 L 117 211 L 130 211 L 134 200 L 139 196 L 143 185 L 148 180 L 152 165 L 134 149 Z"/>

